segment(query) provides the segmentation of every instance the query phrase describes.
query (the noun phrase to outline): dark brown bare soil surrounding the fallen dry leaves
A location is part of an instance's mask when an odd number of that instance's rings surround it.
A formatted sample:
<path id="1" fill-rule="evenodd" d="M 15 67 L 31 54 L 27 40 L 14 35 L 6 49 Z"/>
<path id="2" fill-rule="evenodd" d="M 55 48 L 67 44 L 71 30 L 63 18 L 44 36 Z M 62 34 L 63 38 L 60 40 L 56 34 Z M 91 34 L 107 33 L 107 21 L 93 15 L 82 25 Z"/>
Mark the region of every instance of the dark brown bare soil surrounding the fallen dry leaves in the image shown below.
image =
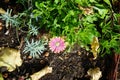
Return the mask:
<path id="1" fill-rule="evenodd" d="M 17 41 L 14 29 L 9 32 L 9 35 L 1 33 L 0 42 L 1 47 L 19 48 L 20 43 Z M 2 32 L 2 31 L 1 31 Z M 21 36 L 23 38 L 24 36 Z M 12 40 L 12 41 L 11 41 Z M 21 41 L 20 41 L 21 42 Z M 21 43 L 24 45 L 24 43 Z M 22 47 L 23 48 L 23 47 Z M 24 55 L 21 58 L 24 60 Z M 90 76 L 87 71 L 90 68 L 99 67 L 102 71 L 100 80 L 108 80 L 107 74 L 109 65 L 111 65 L 110 57 L 98 57 L 93 60 L 91 52 L 80 48 L 79 45 L 74 45 L 74 49 L 67 53 L 55 54 L 51 51 L 45 51 L 40 58 L 32 59 L 26 58 L 22 65 L 12 72 L 8 72 L 6 68 L 1 68 L 5 80 L 21 80 L 21 78 L 29 78 L 30 75 L 44 69 L 46 66 L 52 67 L 52 73 L 44 75 L 40 80 L 89 80 Z M 120 64 L 119 64 L 120 65 Z M 120 76 L 120 68 L 118 68 L 118 79 Z M 6 76 L 7 75 L 7 76 Z"/>

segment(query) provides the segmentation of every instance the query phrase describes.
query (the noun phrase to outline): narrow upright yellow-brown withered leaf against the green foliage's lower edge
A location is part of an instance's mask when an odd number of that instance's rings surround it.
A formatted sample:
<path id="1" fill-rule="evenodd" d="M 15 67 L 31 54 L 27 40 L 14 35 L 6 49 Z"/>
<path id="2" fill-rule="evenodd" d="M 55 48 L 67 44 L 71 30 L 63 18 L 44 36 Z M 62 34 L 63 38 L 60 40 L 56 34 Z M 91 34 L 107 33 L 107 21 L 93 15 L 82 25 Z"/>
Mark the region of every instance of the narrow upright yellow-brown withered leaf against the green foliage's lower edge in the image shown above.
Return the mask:
<path id="1" fill-rule="evenodd" d="M 99 48 L 98 37 L 93 37 L 93 41 L 92 41 L 92 44 L 91 44 L 91 49 L 92 49 L 94 59 L 97 58 L 98 48 Z"/>

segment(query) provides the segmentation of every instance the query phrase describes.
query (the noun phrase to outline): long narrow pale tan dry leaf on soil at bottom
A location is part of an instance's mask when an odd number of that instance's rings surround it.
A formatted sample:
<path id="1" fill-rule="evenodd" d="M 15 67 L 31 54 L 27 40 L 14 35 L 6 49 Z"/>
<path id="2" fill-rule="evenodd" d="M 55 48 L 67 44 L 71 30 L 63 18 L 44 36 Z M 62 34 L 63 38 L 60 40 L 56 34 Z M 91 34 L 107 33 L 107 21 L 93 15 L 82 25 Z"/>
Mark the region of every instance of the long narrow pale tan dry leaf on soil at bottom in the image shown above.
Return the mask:
<path id="1" fill-rule="evenodd" d="M 44 75 L 46 75 L 48 73 L 52 73 L 52 67 L 47 66 L 47 67 L 43 68 L 39 72 L 36 72 L 33 75 L 31 75 L 31 78 L 32 78 L 32 80 L 39 80 L 41 77 L 43 77 Z"/>

